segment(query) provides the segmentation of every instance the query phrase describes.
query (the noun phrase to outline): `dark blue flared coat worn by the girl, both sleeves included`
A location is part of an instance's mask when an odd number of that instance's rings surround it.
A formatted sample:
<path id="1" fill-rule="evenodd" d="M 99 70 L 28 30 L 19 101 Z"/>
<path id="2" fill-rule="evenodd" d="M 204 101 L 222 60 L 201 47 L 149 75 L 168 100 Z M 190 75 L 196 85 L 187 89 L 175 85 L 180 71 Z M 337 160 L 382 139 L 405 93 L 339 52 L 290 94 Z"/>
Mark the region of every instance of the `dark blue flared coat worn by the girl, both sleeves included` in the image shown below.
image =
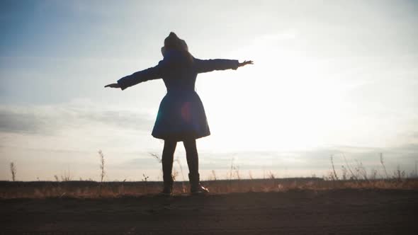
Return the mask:
<path id="1" fill-rule="evenodd" d="M 169 50 L 157 66 L 137 71 L 118 80 L 124 90 L 144 81 L 163 79 L 166 96 L 159 105 L 152 136 L 158 139 L 198 139 L 210 134 L 205 109 L 195 92 L 196 76 L 214 70 L 237 69 L 232 59 L 196 59 Z"/>

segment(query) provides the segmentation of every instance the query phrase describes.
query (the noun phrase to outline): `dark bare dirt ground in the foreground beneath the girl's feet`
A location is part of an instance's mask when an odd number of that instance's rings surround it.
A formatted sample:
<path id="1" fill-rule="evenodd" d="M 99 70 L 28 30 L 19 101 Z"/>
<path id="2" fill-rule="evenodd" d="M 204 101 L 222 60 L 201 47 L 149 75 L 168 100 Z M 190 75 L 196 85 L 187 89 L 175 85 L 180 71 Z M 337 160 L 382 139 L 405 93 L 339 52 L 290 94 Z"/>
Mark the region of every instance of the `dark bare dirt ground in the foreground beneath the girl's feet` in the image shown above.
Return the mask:
<path id="1" fill-rule="evenodd" d="M 0 200 L 0 234 L 418 234 L 418 190 Z"/>

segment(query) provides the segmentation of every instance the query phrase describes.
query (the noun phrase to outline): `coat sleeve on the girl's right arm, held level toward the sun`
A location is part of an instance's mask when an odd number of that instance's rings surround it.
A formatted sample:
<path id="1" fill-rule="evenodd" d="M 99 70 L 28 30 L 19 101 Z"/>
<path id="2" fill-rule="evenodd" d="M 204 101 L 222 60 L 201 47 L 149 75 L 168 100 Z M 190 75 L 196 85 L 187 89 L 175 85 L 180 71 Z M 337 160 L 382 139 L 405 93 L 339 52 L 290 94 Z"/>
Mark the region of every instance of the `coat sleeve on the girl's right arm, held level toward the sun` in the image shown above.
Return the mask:
<path id="1" fill-rule="evenodd" d="M 196 71 L 205 73 L 214 70 L 237 69 L 239 62 L 236 59 L 194 59 Z"/>

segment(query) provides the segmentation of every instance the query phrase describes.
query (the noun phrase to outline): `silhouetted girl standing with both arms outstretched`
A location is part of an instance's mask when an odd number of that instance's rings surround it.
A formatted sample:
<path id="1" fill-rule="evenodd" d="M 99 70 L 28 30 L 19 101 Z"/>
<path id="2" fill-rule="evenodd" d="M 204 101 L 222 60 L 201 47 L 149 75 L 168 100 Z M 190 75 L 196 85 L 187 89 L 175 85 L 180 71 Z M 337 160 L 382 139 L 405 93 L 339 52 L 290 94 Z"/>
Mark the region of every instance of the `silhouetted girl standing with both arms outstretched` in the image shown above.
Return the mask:
<path id="1" fill-rule="evenodd" d="M 157 120 L 152 130 L 153 137 L 164 139 L 162 193 L 167 195 L 172 193 L 171 170 L 177 142 L 183 142 L 186 149 L 191 193 L 208 193 L 208 189 L 200 185 L 196 139 L 210 135 L 210 130 L 202 101 L 195 91 L 196 76 L 208 71 L 237 69 L 253 62 L 196 59 L 188 52 L 186 42 L 172 32 L 164 40 L 161 52 L 164 59 L 157 66 L 124 76 L 117 84 L 108 84 L 105 87 L 125 90 L 144 81 L 163 79 L 167 93 L 159 105 Z"/>

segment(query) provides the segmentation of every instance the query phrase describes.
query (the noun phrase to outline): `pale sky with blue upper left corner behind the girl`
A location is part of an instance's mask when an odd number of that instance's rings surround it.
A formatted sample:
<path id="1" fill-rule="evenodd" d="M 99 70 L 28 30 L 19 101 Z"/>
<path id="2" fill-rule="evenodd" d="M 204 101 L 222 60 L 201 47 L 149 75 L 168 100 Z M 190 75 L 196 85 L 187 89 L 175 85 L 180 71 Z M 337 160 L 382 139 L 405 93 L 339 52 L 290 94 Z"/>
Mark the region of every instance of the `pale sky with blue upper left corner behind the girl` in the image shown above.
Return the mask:
<path id="1" fill-rule="evenodd" d="M 151 136 L 162 80 L 103 88 L 162 59 L 171 31 L 200 59 L 203 179 L 416 171 L 416 1 L 0 1 L 0 180 L 162 180 Z M 177 145 L 174 167 L 187 166 Z M 187 178 L 186 178 L 187 180 Z"/>

